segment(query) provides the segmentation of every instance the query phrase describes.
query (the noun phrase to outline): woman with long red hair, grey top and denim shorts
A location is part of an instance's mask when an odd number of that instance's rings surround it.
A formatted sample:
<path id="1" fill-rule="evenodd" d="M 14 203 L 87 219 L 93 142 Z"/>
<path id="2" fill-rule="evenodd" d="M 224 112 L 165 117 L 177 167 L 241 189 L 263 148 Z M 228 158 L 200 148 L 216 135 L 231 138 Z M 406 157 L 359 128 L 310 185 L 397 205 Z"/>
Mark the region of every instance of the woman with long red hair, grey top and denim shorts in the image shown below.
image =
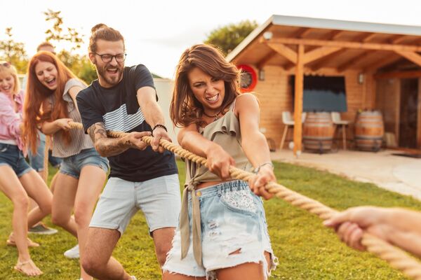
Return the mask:
<path id="1" fill-rule="evenodd" d="M 52 220 L 78 238 L 83 255 L 93 208 L 108 171 L 107 159 L 98 155 L 91 138 L 69 126 L 71 120 L 81 122 L 76 95 L 86 84 L 55 55 L 44 51 L 32 57 L 27 75 L 23 139 L 34 151 L 38 129 L 53 136 L 53 156 L 63 162 L 54 190 Z M 81 268 L 81 279 L 92 277 Z"/>

